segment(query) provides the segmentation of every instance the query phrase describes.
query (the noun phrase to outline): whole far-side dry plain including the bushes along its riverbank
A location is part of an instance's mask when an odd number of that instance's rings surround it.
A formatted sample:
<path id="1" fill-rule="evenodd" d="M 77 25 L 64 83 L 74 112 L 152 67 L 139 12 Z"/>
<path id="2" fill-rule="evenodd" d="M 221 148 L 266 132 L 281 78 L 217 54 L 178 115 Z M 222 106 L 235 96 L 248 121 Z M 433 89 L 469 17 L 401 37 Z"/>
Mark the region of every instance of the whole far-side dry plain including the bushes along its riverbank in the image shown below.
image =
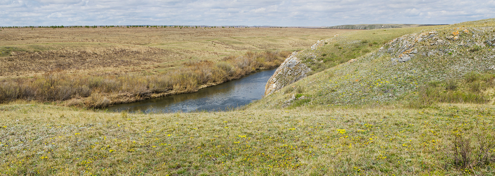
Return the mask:
<path id="1" fill-rule="evenodd" d="M 237 79 L 351 30 L 300 28 L 5 28 L 0 103 L 101 107 Z"/>

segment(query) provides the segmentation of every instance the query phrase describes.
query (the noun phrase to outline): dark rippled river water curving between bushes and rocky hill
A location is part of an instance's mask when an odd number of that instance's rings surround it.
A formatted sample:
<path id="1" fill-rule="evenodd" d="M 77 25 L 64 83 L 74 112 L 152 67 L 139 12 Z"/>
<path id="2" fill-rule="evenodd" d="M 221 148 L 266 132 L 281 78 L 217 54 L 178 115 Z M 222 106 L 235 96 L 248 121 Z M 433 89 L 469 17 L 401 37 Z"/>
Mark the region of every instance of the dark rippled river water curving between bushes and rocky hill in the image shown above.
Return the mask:
<path id="1" fill-rule="evenodd" d="M 265 85 L 276 69 L 261 70 L 250 73 L 240 79 L 199 89 L 198 92 L 171 95 L 140 102 L 119 104 L 106 107 L 109 111 L 191 112 L 213 111 L 236 108 L 261 99 Z"/>

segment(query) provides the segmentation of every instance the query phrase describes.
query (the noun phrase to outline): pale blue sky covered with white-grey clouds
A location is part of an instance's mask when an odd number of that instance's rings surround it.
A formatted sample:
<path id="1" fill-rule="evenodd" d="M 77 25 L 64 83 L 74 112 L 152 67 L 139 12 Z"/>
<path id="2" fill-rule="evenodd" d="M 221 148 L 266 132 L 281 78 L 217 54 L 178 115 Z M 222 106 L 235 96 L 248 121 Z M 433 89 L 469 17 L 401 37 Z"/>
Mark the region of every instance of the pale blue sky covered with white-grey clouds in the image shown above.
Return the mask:
<path id="1" fill-rule="evenodd" d="M 495 18 L 495 0 L 0 0 L 0 26 L 335 26 Z"/>

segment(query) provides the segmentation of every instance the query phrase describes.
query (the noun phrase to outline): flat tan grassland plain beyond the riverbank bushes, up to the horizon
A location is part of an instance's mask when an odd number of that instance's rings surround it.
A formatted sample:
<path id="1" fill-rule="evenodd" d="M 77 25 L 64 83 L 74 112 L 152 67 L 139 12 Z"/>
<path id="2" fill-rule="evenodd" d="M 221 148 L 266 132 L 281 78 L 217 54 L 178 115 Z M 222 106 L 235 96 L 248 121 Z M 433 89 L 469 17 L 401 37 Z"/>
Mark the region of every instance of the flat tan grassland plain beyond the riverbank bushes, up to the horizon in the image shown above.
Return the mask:
<path id="1" fill-rule="evenodd" d="M 0 78 L 77 73 L 156 73 L 247 51 L 301 50 L 355 30 L 301 28 L 4 28 Z"/>

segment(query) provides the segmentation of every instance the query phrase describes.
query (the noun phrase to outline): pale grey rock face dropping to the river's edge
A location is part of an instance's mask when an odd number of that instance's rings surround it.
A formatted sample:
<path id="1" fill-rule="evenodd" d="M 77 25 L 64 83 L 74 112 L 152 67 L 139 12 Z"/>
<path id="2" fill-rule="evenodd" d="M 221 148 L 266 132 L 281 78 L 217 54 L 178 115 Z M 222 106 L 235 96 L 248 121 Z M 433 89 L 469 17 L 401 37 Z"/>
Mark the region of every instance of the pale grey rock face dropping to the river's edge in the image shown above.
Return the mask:
<path id="1" fill-rule="evenodd" d="M 311 69 L 297 58 L 297 52 L 292 53 L 266 83 L 265 95 L 270 95 L 277 90 L 306 77 L 309 71 L 311 71 Z"/>

